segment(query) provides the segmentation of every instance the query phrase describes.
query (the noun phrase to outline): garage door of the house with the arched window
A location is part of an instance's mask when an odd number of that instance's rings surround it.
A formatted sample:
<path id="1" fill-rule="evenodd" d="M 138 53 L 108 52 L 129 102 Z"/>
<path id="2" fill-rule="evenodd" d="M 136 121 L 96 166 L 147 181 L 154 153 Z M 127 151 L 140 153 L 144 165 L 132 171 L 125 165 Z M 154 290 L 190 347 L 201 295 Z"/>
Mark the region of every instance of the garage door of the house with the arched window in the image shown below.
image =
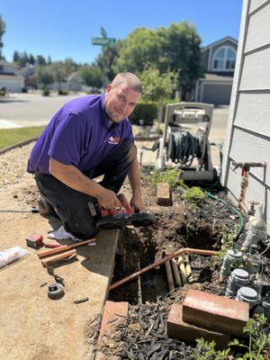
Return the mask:
<path id="1" fill-rule="evenodd" d="M 202 103 L 229 105 L 232 84 L 203 84 Z"/>

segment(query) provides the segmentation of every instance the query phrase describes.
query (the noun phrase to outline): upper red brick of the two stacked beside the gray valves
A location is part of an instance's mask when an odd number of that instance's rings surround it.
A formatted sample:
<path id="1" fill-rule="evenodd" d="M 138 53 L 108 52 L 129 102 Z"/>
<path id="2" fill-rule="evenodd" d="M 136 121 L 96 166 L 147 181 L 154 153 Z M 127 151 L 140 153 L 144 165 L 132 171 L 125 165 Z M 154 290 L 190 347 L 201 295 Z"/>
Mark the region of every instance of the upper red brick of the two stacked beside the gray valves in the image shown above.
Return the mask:
<path id="1" fill-rule="evenodd" d="M 183 320 L 228 334 L 243 335 L 249 319 L 247 302 L 238 302 L 224 296 L 188 290 L 183 302 Z"/>

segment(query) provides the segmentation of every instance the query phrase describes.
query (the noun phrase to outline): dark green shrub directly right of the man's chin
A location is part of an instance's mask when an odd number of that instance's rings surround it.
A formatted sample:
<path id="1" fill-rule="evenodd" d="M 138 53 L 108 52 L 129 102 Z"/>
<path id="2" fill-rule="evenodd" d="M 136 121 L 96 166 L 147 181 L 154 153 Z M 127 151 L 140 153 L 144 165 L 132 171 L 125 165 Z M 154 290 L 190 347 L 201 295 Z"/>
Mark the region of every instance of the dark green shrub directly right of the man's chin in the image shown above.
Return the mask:
<path id="1" fill-rule="evenodd" d="M 155 102 L 139 102 L 134 112 L 131 113 L 130 122 L 135 125 L 153 125 L 154 119 L 157 118 L 157 103 Z M 142 123 L 141 123 L 142 122 Z"/>

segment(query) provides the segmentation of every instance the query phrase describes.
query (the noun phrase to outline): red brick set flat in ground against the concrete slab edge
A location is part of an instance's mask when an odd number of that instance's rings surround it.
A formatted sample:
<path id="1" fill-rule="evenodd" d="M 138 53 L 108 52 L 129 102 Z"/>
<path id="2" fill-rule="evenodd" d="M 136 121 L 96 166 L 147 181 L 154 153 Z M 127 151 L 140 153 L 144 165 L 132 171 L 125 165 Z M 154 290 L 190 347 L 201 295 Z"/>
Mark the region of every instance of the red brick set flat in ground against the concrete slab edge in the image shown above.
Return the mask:
<path id="1" fill-rule="evenodd" d="M 103 320 L 100 328 L 98 343 L 101 344 L 104 335 L 109 334 L 112 327 L 128 316 L 129 302 L 105 302 Z"/>

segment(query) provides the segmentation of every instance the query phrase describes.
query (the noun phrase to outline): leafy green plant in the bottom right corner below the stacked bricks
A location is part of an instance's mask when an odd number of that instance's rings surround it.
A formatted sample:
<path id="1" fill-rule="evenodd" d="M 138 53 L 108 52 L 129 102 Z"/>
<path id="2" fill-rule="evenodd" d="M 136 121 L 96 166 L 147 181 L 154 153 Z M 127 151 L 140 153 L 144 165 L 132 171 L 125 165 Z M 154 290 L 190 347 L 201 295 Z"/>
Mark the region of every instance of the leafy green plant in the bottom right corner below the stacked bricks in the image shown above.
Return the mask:
<path id="1" fill-rule="evenodd" d="M 264 360 L 268 357 L 266 347 L 270 346 L 270 334 L 266 334 L 267 320 L 262 314 L 255 314 L 253 319 L 247 321 L 243 332 L 248 335 L 248 345 L 240 343 L 237 338 L 230 341 L 228 348 L 216 350 L 214 341 L 203 338 L 196 339 L 197 347 L 194 350 L 196 360 Z M 242 355 L 232 356 L 230 347 L 242 347 L 247 352 Z"/>

